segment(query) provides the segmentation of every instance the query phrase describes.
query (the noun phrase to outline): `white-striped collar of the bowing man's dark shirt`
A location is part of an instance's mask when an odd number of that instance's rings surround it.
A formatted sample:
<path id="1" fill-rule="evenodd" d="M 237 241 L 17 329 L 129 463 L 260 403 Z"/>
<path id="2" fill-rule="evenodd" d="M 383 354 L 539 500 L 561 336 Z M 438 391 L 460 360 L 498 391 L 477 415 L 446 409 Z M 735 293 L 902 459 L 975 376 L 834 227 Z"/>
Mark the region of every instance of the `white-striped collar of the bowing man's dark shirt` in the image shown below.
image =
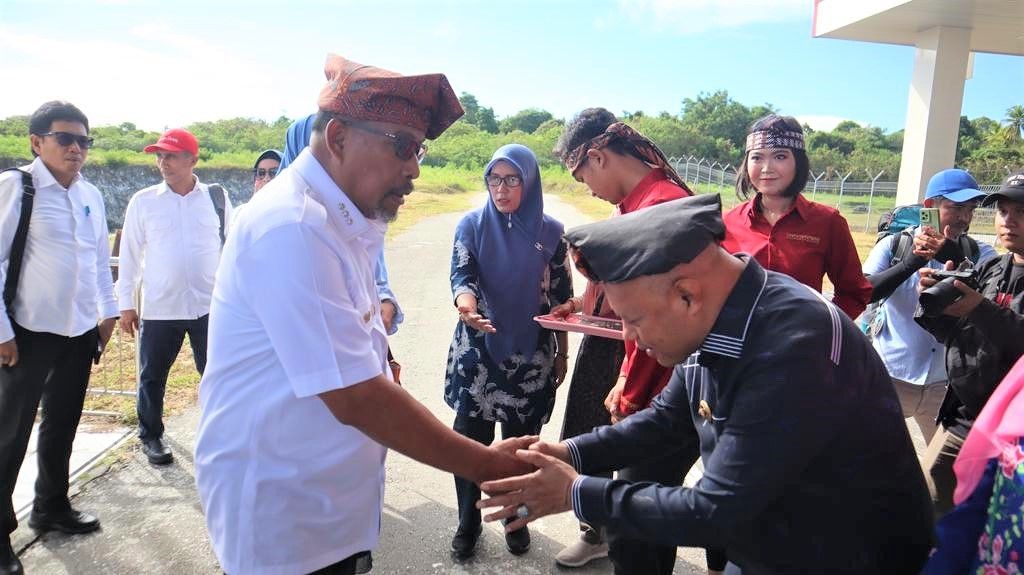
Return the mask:
<path id="1" fill-rule="evenodd" d="M 736 257 L 745 261 L 746 267 L 732 286 L 711 333 L 700 344 L 701 355 L 716 354 L 736 359 L 743 353 L 746 330 L 768 282 L 768 273 L 754 258 L 746 255 Z"/>

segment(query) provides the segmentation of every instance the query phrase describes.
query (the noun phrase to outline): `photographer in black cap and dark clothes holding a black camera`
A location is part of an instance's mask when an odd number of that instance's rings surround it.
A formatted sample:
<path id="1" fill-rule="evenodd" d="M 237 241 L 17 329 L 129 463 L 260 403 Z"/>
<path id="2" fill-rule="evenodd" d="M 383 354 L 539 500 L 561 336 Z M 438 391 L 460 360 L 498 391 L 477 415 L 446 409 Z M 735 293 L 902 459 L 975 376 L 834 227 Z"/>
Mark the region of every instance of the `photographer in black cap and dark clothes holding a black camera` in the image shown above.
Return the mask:
<path id="1" fill-rule="evenodd" d="M 984 205 L 991 204 L 996 206 L 996 235 L 1008 254 L 978 266 L 970 279 L 943 278 L 930 268 L 920 271 L 923 294 L 934 296 L 936 286 L 955 289 L 952 303 L 943 302 L 937 310 L 925 296 L 923 303 L 931 305 L 924 305 L 916 317 L 946 346 L 949 388 L 939 409 L 943 431 L 932 439 L 923 461 L 938 516 L 952 506 L 952 463 L 964 438 L 995 386 L 1024 352 L 1024 172 L 1007 178 L 985 198 Z M 920 246 L 935 247 L 933 241 Z M 945 267 L 954 266 L 950 261 Z"/>

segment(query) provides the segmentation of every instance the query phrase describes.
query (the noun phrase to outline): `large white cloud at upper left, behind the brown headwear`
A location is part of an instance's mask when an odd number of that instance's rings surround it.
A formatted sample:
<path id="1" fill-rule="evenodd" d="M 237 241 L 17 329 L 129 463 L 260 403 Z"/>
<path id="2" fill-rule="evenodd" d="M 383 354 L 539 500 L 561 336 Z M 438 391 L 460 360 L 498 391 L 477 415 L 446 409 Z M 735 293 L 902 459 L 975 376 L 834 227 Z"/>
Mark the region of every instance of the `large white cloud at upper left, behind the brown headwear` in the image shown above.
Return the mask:
<path id="1" fill-rule="evenodd" d="M 65 99 L 93 125 L 133 122 L 159 131 L 240 116 L 272 120 L 293 99 L 296 71 L 268 73 L 259 58 L 216 37 L 148 24 L 125 30 L 120 39 L 84 40 L 0 26 L 5 76 L 32 79 L 31 90 L 5 94 L 0 117 Z M 308 94 L 300 101 L 311 106 Z"/>

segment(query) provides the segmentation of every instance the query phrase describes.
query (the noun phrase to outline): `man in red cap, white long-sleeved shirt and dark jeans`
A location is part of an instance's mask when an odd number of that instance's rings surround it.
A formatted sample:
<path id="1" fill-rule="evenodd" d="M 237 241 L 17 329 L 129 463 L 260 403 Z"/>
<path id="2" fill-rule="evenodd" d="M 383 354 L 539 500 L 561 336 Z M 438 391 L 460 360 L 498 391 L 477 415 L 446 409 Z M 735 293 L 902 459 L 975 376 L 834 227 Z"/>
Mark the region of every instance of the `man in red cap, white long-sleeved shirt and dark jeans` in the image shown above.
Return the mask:
<path id="1" fill-rule="evenodd" d="M 138 437 L 150 462 L 160 466 L 173 460 L 163 440 L 164 390 L 185 335 L 196 369 L 206 368 L 210 295 L 231 203 L 225 190 L 211 191 L 193 172 L 199 142 L 187 130 L 168 130 L 145 152 L 157 156 L 164 181 L 128 203 L 117 292 L 121 328 L 138 329 Z"/>

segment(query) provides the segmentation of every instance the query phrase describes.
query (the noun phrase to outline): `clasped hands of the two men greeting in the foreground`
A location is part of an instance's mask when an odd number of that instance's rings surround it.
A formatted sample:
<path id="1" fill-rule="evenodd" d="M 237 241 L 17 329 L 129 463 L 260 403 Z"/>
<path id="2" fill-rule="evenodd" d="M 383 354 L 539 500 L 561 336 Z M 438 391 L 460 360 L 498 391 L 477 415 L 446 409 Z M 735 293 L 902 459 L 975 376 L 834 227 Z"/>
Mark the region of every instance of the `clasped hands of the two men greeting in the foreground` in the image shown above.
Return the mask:
<path id="1" fill-rule="evenodd" d="M 534 436 L 513 437 L 490 446 L 490 458 L 480 477 L 488 498 L 478 508 L 499 507 L 484 521 L 513 519 L 506 532 L 525 527 L 542 517 L 572 508 L 572 483 L 579 474 L 569 465 L 565 443 L 547 443 Z"/>

